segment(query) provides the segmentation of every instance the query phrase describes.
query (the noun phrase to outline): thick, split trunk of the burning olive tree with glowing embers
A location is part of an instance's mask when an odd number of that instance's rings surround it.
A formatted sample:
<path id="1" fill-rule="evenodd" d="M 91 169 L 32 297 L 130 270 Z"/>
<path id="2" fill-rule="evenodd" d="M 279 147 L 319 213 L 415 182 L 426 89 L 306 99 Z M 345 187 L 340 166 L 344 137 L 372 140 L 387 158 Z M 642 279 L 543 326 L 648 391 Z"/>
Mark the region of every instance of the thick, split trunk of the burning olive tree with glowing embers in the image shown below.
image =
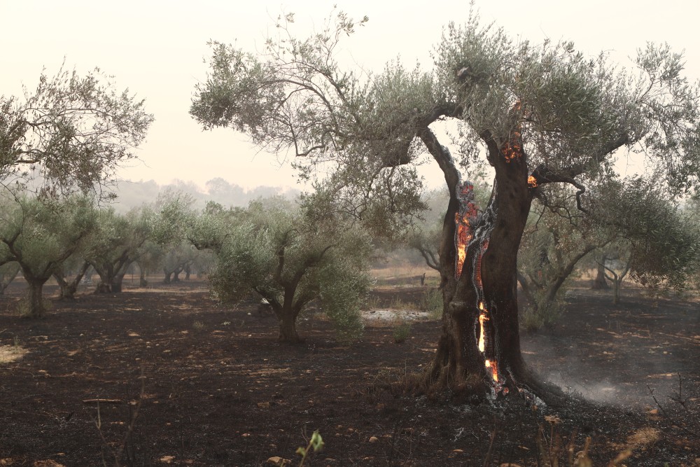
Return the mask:
<path id="1" fill-rule="evenodd" d="M 493 141 L 488 147 L 496 180 L 481 215 L 470 183 L 441 163 L 450 192 L 440 245 L 444 311 L 425 386 L 477 399 L 514 391 L 554 402 L 561 391 L 533 377 L 520 351 L 517 252 L 533 199 L 527 166 L 524 157 L 504 158 Z"/>

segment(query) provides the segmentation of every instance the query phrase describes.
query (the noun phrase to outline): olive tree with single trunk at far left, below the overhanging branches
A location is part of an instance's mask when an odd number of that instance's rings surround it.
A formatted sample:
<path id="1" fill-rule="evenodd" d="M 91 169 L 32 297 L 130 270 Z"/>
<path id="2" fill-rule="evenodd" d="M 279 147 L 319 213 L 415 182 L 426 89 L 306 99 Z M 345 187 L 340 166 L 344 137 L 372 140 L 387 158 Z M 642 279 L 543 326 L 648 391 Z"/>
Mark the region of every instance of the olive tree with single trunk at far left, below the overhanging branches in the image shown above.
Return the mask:
<path id="1" fill-rule="evenodd" d="M 20 265 L 29 286 L 23 314 L 41 318 L 43 285 L 97 227 L 96 211 L 86 197 L 55 201 L 22 195 L 5 197 L 0 215 L 0 256 Z"/>

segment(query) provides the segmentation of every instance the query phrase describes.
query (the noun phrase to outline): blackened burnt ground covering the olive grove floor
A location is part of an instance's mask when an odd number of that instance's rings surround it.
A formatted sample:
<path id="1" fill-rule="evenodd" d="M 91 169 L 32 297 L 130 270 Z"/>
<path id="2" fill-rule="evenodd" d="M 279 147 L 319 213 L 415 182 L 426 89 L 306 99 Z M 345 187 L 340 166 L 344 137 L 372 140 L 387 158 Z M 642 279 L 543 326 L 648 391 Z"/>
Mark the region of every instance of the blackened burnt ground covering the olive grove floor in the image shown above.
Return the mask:
<path id="1" fill-rule="evenodd" d="M 374 302 L 419 302 L 424 290 L 384 288 Z M 619 465 L 700 466 L 698 302 L 628 294 L 613 307 L 575 289 L 559 325 L 522 337 L 528 362 L 573 395 L 533 410 L 512 396 L 403 393 L 433 354 L 437 321 L 414 323 L 402 344 L 395 324 L 372 321 L 346 346 L 310 317 L 305 344 L 289 347 L 273 316 L 220 307 L 203 282 L 83 293 L 41 321 L 17 317 L 20 293 L 0 297 L 0 466 L 114 465 L 119 453 L 134 466 L 297 465 L 314 430 L 325 449 L 304 465 L 544 466 L 538 452 L 559 447 L 569 465 L 567 446 L 590 438 L 595 466 L 626 449 Z"/>

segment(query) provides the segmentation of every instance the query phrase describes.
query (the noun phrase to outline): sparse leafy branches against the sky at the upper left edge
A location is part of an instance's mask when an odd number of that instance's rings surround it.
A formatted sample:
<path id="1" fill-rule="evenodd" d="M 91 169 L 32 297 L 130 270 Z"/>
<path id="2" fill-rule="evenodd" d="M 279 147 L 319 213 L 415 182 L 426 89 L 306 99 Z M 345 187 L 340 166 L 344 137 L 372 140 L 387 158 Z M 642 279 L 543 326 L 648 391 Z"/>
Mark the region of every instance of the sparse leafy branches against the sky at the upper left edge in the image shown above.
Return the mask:
<path id="1" fill-rule="evenodd" d="M 0 181 L 38 170 L 52 193 L 99 190 L 135 157 L 152 122 L 144 101 L 118 91 L 99 69 L 42 73 L 23 97 L 0 95 Z"/>

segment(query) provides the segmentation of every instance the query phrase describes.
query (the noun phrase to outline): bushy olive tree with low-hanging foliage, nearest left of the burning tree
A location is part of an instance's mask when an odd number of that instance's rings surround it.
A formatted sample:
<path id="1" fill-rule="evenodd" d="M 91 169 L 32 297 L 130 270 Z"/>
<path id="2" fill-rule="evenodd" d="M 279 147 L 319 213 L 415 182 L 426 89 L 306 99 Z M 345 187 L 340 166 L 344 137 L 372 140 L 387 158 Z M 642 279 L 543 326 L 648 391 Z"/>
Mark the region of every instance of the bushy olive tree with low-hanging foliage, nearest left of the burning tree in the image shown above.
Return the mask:
<path id="1" fill-rule="evenodd" d="M 209 280 L 224 301 L 265 300 L 279 322 L 280 342 L 297 343 L 297 319 L 316 301 L 340 340 L 360 336 L 360 305 L 370 286 L 370 239 L 337 218 L 251 202 L 248 209 L 205 212 L 194 243 L 216 256 Z"/>

